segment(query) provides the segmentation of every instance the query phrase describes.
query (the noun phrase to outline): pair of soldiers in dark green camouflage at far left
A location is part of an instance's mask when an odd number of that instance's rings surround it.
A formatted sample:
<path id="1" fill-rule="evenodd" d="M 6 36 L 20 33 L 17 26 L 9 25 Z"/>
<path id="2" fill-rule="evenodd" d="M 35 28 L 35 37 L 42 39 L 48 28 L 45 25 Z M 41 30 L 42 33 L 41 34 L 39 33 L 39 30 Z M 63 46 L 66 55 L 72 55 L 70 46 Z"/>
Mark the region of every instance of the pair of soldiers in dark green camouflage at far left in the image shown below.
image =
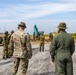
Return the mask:
<path id="1" fill-rule="evenodd" d="M 4 37 L 3 37 L 3 59 L 10 58 L 13 55 L 13 48 L 10 47 L 10 38 L 14 31 L 12 30 L 9 34 L 8 31 L 5 31 Z"/>

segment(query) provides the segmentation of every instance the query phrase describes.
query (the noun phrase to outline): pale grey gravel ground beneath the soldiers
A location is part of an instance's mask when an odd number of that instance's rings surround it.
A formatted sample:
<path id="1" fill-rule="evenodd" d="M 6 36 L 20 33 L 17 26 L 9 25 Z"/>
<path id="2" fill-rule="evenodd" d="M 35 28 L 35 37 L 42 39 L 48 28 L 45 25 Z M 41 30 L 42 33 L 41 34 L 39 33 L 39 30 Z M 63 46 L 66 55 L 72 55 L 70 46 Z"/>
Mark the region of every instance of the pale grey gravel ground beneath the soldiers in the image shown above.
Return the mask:
<path id="1" fill-rule="evenodd" d="M 49 46 L 49 44 L 46 44 L 45 51 L 39 52 L 39 45 L 32 45 L 33 56 L 29 60 L 26 75 L 55 75 L 55 65 L 51 62 Z M 10 59 L 3 60 L 2 51 L 3 47 L 0 47 L 0 75 L 11 75 L 14 58 L 11 57 Z M 73 66 L 74 75 L 76 75 L 76 52 L 73 54 Z"/>

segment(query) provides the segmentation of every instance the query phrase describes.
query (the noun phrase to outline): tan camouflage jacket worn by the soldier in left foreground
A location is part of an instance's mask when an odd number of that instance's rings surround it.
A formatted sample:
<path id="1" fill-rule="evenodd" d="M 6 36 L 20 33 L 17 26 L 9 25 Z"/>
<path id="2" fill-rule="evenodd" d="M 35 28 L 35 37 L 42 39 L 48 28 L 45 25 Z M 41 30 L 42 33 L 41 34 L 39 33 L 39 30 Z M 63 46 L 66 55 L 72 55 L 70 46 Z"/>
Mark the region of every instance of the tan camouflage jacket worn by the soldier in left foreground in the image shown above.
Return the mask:
<path id="1" fill-rule="evenodd" d="M 30 41 L 29 41 L 30 43 Z M 16 58 L 28 58 L 28 52 L 32 55 L 31 43 L 27 46 L 27 34 L 21 31 L 16 31 L 10 40 L 10 45 L 14 44 L 14 57 Z M 27 48 L 28 47 L 28 48 Z"/>

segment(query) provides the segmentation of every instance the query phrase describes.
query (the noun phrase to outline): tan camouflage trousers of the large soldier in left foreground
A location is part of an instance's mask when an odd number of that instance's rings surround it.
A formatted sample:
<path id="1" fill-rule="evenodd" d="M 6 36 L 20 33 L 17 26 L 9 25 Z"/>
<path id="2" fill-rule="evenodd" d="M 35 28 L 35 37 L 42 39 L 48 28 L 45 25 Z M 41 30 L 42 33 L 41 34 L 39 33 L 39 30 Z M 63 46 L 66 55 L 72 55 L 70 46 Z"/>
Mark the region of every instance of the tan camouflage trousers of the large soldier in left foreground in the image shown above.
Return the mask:
<path id="1" fill-rule="evenodd" d="M 25 58 L 14 58 L 14 71 L 12 75 L 26 75 L 28 69 L 28 60 Z"/>

